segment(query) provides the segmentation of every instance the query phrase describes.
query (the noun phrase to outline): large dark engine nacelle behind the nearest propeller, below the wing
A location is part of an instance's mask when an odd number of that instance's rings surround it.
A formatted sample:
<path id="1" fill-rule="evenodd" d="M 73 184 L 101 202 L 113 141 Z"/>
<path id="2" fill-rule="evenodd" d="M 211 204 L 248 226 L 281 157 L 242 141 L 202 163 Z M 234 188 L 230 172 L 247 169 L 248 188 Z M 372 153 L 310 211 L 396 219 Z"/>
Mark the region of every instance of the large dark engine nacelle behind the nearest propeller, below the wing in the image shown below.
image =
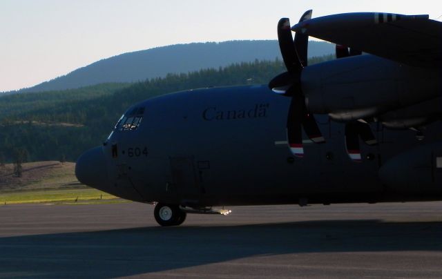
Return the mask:
<path id="1" fill-rule="evenodd" d="M 361 55 L 306 67 L 301 84 L 310 113 L 350 121 L 438 97 L 440 74 Z"/>

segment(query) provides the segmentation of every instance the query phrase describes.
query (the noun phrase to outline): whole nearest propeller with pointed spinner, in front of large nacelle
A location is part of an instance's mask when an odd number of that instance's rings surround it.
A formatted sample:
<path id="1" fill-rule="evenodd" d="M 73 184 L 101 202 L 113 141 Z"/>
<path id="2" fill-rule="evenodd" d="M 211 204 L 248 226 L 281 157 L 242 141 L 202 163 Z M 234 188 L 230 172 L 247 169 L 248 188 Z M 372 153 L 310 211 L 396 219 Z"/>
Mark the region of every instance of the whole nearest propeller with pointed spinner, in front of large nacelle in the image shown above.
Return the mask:
<path id="1" fill-rule="evenodd" d="M 299 22 L 311 19 L 311 12 L 305 12 Z M 308 39 L 308 35 L 300 33 L 296 33 L 293 39 L 289 19 L 282 18 L 278 22 L 278 41 L 287 72 L 274 77 L 269 82 L 269 88 L 275 93 L 291 97 L 287 115 L 287 141 L 291 153 L 296 157 L 304 157 L 302 128 L 311 141 L 325 142 L 314 115 L 307 110 L 300 84 L 302 68 L 307 66 Z"/>

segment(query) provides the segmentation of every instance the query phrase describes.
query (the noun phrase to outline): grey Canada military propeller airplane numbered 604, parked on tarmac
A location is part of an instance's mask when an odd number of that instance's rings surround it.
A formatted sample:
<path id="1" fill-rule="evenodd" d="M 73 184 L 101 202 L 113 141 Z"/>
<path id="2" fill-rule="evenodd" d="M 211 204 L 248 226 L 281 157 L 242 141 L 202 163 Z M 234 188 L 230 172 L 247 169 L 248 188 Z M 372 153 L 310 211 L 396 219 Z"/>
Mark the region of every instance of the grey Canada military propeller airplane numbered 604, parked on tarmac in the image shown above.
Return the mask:
<path id="1" fill-rule="evenodd" d="M 78 180 L 156 204 L 161 226 L 224 206 L 442 200 L 442 23 L 309 10 L 277 31 L 286 73 L 131 106 Z M 308 66 L 309 36 L 338 59 Z"/>

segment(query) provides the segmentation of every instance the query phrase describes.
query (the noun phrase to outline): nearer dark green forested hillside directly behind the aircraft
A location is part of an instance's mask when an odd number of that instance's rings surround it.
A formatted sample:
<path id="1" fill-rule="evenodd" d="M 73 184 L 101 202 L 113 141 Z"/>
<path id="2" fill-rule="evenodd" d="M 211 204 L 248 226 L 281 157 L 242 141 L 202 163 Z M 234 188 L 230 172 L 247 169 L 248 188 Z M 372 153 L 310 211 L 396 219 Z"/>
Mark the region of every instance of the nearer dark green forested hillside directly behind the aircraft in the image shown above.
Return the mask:
<path id="1" fill-rule="evenodd" d="M 309 64 L 329 59 L 334 56 L 310 59 Z M 253 61 L 135 84 L 0 97 L 0 167 L 1 162 L 14 162 L 20 154 L 26 154 L 28 161 L 63 157 L 75 162 L 82 152 L 101 144 L 122 113 L 136 102 L 190 88 L 267 84 L 283 71 L 280 60 Z"/>

